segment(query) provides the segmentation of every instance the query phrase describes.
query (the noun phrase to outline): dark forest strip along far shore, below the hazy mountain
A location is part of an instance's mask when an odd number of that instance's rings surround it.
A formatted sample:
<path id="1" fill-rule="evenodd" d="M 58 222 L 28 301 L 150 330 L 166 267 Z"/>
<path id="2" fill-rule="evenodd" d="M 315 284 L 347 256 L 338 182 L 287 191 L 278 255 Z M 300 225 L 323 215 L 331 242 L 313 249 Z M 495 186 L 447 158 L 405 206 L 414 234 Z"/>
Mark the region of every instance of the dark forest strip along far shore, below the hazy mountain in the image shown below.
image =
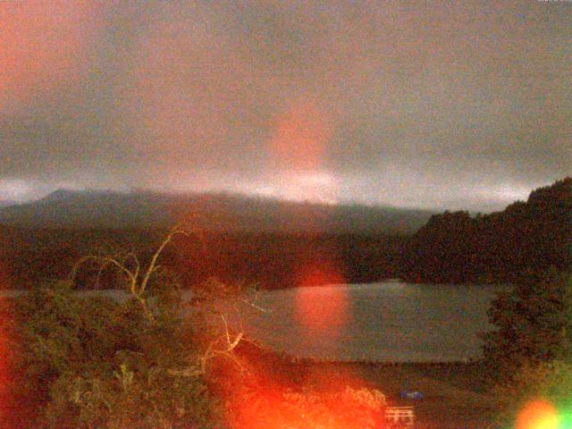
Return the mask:
<path id="1" fill-rule="evenodd" d="M 21 230 L 0 227 L 0 289 L 26 289 L 46 279 L 63 279 L 88 253 L 125 247 L 141 255 L 164 231 L 142 230 Z M 296 285 L 304 266 L 334 265 L 346 282 L 375 282 L 397 277 L 404 237 L 383 234 L 310 234 L 204 231 L 202 238 L 177 240 L 167 248 L 162 265 L 181 276 L 184 288 L 215 276 L 223 282 L 257 282 L 261 288 Z M 5 246 L 3 246 L 5 243 Z M 97 272 L 97 268 L 94 268 Z M 81 287 L 94 288 L 93 273 L 80 273 Z M 113 288 L 116 273 L 100 278 L 100 288 Z M 324 279 L 327 281 L 328 279 Z"/>

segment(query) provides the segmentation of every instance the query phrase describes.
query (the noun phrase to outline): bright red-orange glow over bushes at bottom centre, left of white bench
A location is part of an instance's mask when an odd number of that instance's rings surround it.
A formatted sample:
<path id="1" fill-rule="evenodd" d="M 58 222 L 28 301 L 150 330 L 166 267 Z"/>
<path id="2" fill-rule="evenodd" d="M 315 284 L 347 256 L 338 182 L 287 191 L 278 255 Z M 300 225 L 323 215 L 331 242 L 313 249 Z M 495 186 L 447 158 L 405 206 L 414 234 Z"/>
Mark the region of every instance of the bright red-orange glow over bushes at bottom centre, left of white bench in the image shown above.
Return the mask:
<path id="1" fill-rule="evenodd" d="M 384 427 L 385 397 L 365 389 L 355 367 L 299 366 L 249 347 L 240 364 L 222 378 L 232 429 Z"/>

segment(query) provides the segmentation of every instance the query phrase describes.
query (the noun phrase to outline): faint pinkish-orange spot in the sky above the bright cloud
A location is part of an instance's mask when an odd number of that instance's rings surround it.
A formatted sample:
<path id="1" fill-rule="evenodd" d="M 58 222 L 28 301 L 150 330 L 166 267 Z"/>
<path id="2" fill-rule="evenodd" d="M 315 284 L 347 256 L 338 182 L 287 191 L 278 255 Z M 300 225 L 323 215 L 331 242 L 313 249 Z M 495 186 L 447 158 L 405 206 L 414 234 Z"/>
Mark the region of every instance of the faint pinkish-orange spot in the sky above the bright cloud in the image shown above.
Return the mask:
<path id="1" fill-rule="evenodd" d="M 324 163 L 330 134 L 323 112 L 313 104 L 297 105 L 277 121 L 270 151 L 279 169 L 315 170 Z"/>

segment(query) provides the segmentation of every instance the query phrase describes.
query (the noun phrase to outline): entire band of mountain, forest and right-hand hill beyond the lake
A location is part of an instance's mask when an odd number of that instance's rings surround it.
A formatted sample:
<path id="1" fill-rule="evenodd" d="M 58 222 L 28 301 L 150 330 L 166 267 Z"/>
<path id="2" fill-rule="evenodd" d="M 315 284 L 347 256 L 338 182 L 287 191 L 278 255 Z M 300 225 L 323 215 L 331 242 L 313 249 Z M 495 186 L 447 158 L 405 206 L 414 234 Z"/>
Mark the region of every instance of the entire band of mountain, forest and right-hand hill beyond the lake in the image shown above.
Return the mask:
<path id="1" fill-rule="evenodd" d="M 191 216 L 194 215 L 194 216 Z M 0 287 L 62 278 L 101 243 L 139 252 L 180 220 L 202 231 L 167 265 L 186 285 L 214 275 L 263 287 L 375 282 L 516 282 L 572 267 L 572 178 L 535 189 L 504 211 L 433 214 L 227 194 L 60 190 L 0 209 Z M 428 221 L 428 222 L 427 222 Z"/>

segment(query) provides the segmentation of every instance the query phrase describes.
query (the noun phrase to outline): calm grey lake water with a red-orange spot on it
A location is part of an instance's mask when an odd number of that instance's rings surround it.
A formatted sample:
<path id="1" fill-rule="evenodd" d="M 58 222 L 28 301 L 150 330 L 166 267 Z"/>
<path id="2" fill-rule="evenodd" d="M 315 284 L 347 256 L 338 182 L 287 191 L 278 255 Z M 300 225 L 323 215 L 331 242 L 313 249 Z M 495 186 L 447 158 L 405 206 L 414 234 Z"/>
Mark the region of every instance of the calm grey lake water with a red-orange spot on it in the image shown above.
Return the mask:
<path id="1" fill-rule="evenodd" d="M 265 311 L 245 305 L 240 323 L 250 337 L 296 357 L 458 361 L 480 356 L 477 333 L 491 329 L 486 310 L 506 289 L 379 282 L 260 291 L 256 302 Z"/>

